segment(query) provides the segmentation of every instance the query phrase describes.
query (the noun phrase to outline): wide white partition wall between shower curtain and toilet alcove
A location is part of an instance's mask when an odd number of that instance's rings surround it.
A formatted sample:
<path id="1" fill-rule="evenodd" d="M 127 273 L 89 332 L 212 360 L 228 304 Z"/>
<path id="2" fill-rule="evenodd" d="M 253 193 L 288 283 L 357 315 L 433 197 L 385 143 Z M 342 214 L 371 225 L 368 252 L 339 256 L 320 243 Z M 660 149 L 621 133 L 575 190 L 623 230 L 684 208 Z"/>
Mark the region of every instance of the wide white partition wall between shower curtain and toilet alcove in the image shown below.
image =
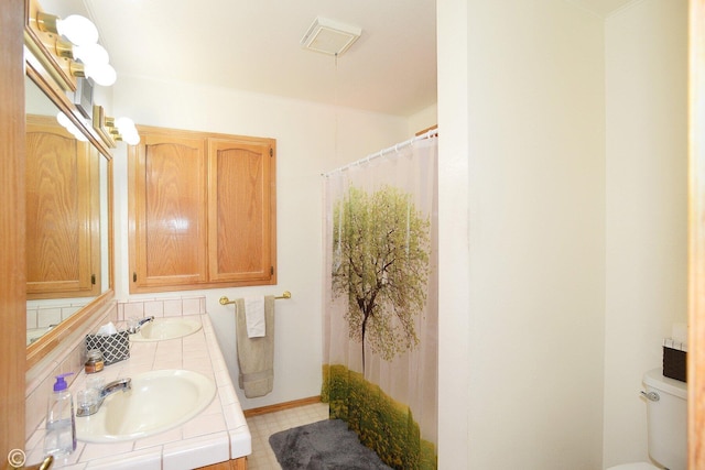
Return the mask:
<path id="1" fill-rule="evenodd" d="M 441 468 L 599 468 L 603 22 L 438 0 L 437 31 Z"/>

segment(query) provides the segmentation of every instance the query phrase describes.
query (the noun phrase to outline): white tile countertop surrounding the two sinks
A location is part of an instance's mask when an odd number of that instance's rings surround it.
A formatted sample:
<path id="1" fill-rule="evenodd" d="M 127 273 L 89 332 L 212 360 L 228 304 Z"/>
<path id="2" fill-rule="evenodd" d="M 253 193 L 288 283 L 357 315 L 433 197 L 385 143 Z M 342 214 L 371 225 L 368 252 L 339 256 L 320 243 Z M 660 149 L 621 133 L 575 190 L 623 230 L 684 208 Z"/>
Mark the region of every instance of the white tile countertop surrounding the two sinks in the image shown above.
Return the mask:
<path id="1" fill-rule="evenodd" d="M 107 365 L 104 371 L 87 375 L 80 372 L 69 390 L 74 405 L 78 391 L 86 387 L 86 379 L 102 376 L 105 382 L 129 378 L 162 369 L 185 369 L 212 378 L 217 386 L 213 402 L 184 425 L 143 439 L 94 444 L 78 441 L 76 451 L 53 468 L 68 470 L 187 470 L 252 452 L 252 439 L 223 353 L 218 347 L 210 317 L 184 316 L 198 319 L 203 328 L 184 338 L 132 342 L 130 359 Z M 76 418 L 80 419 L 80 418 Z M 28 461 L 43 456 L 44 425 L 28 441 Z"/>

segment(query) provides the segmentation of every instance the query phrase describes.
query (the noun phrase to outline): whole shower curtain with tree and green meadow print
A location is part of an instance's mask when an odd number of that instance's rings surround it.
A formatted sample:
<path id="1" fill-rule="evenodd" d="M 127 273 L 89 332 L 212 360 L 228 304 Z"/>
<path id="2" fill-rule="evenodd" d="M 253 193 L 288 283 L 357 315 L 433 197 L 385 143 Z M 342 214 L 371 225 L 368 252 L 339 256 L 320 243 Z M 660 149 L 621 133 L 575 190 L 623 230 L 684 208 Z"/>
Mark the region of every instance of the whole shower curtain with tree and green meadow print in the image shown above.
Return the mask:
<path id="1" fill-rule="evenodd" d="M 376 156 L 325 177 L 322 397 L 388 466 L 435 469 L 437 138 Z"/>

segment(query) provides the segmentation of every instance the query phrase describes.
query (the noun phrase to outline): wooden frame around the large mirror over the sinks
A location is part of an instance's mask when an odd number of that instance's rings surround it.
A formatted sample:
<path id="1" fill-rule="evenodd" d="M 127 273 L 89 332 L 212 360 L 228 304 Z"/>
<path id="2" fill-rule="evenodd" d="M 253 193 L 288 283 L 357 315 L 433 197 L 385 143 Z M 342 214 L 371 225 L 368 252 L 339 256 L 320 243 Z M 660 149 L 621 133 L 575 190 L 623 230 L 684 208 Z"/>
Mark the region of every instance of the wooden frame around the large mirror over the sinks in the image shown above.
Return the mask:
<path id="1" fill-rule="evenodd" d="M 47 357 L 72 334 L 78 332 L 82 328 L 86 328 L 86 324 L 90 317 L 115 298 L 112 154 L 100 136 L 95 133 L 93 127 L 84 122 L 83 116 L 76 106 L 69 101 L 65 92 L 66 83 L 62 84 L 63 80 L 58 78 L 65 76 L 66 64 L 61 64 L 58 58 L 51 53 L 51 48 L 43 43 L 42 37 L 44 37 L 46 33 L 41 33 L 36 29 L 35 18 L 37 11 L 40 11 L 40 8 L 35 0 L 25 0 L 25 75 L 34 81 L 46 97 L 86 135 L 88 141 L 108 163 L 108 288 L 84 308 L 29 345 L 26 347 L 26 370 L 30 370 Z M 75 85 L 70 91 L 73 90 L 75 90 Z"/>

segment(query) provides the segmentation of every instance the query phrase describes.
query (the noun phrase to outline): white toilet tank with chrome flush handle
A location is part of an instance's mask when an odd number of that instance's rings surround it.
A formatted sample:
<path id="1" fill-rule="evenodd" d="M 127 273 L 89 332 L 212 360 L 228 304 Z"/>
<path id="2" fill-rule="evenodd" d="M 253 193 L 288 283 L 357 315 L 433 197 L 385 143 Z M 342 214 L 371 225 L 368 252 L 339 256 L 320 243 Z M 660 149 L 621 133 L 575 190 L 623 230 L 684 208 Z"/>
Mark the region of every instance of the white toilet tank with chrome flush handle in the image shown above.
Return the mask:
<path id="1" fill-rule="evenodd" d="M 643 375 L 647 394 L 649 456 L 670 470 L 687 470 L 687 385 L 663 376 L 661 369 Z"/>

